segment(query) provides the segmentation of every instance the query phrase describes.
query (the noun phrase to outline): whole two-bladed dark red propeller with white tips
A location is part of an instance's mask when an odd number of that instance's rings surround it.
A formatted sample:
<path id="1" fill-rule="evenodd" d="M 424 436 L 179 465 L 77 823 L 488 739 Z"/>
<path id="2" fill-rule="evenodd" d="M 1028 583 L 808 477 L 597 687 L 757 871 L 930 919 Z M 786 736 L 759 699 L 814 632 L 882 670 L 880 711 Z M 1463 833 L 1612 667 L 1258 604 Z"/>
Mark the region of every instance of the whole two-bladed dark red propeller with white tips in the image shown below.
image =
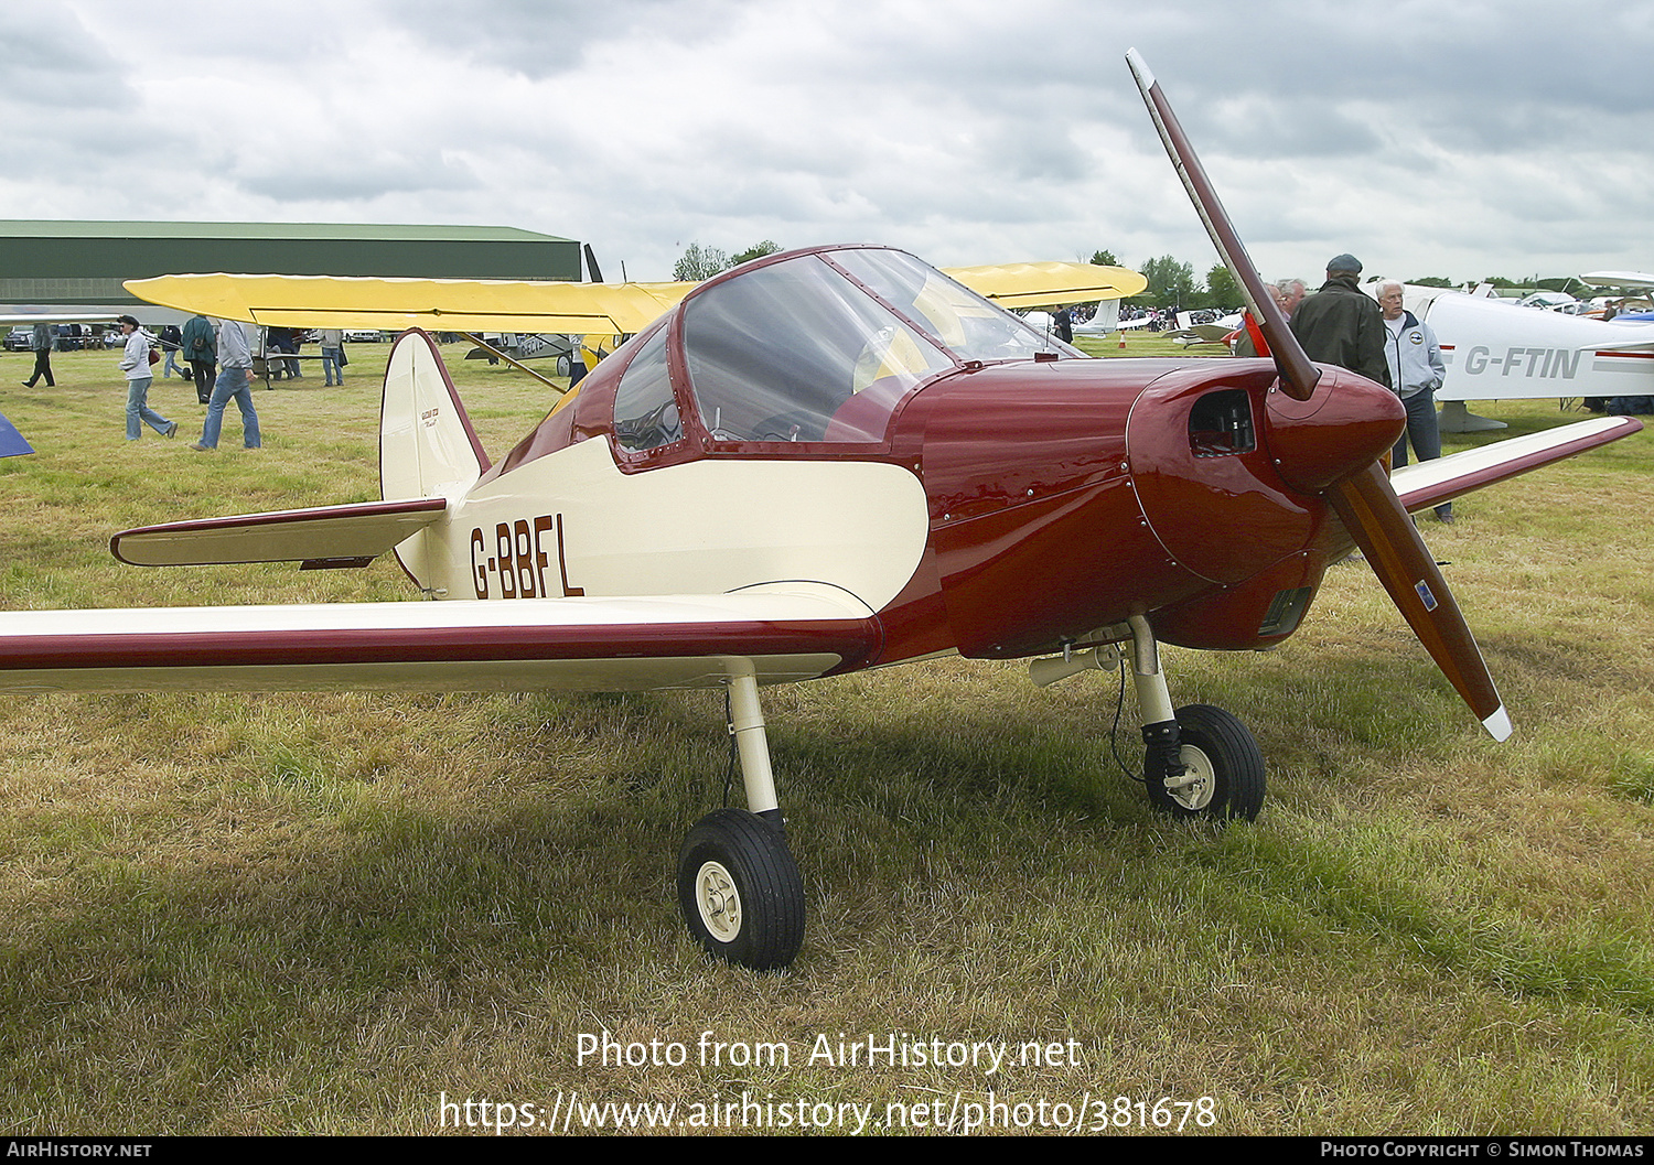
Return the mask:
<path id="1" fill-rule="evenodd" d="M 1224 266 L 1245 292 L 1252 317 L 1259 321 L 1275 360 L 1280 392 L 1293 402 L 1303 402 L 1293 408 L 1270 407 L 1265 420 L 1272 449 L 1280 459 L 1282 478 L 1310 492 L 1322 494 L 1331 504 L 1345 529 L 1361 547 L 1378 580 L 1389 592 L 1391 602 L 1419 636 L 1424 649 L 1431 653 L 1436 666 L 1447 676 L 1489 734 L 1495 740 L 1503 740 L 1510 735 L 1510 717 L 1505 714 L 1494 678 L 1487 671 L 1487 663 L 1482 659 L 1480 648 L 1475 646 L 1475 638 L 1464 621 L 1459 603 L 1454 602 L 1447 582 L 1436 568 L 1436 559 L 1396 497 L 1383 464 L 1374 459 L 1355 466 L 1318 466 L 1292 456 L 1295 416 L 1302 418 L 1297 423 L 1305 423 L 1320 413 L 1322 405 L 1317 403 L 1317 398 L 1325 403 L 1340 395 L 1346 398 L 1356 393 L 1368 395 L 1371 388 L 1379 388 L 1381 393 L 1388 395 L 1388 390 L 1353 372 L 1318 369 L 1310 362 L 1297 335 L 1287 326 L 1285 316 L 1267 294 L 1262 276 L 1252 266 L 1245 246 L 1236 235 L 1217 192 L 1206 177 L 1206 170 L 1201 167 L 1194 147 L 1189 145 L 1154 74 L 1150 73 L 1148 64 L 1135 48 L 1126 51 L 1126 63 L 1131 66 L 1131 74 L 1136 78 L 1143 101 L 1154 119 L 1166 154 L 1189 192 L 1189 200 L 1201 215 L 1201 221 L 1206 223 L 1206 231 L 1222 256 Z"/>

